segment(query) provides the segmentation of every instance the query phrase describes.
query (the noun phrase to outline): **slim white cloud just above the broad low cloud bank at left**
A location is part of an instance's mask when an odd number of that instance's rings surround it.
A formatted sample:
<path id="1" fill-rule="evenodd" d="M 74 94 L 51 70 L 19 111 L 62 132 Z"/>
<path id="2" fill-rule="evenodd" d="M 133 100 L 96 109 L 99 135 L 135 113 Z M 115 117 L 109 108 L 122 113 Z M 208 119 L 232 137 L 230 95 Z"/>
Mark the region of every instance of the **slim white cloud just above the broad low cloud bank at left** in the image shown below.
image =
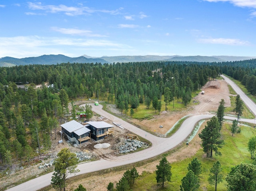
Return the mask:
<path id="1" fill-rule="evenodd" d="M 70 34 L 70 35 L 80 35 L 80 36 L 89 36 L 89 37 L 106 37 L 106 35 L 94 34 L 90 30 L 80 30 L 73 28 L 58 28 L 52 27 L 52 30 L 56 32 L 60 32 L 62 34 Z"/>

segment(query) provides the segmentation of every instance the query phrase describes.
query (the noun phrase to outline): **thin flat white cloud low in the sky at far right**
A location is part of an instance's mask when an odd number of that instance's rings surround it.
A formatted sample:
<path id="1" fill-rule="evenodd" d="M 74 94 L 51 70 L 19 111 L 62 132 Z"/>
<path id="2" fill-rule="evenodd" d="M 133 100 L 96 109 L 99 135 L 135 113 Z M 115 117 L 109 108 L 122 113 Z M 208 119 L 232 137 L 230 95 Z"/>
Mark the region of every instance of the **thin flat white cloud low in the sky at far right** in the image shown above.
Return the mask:
<path id="1" fill-rule="evenodd" d="M 201 43 L 210 43 L 210 44 L 224 44 L 224 45 L 250 45 L 248 41 L 241 41 L 240 39 L 231 39 L 231 38 L 205 38 L 199 39 Z"/>

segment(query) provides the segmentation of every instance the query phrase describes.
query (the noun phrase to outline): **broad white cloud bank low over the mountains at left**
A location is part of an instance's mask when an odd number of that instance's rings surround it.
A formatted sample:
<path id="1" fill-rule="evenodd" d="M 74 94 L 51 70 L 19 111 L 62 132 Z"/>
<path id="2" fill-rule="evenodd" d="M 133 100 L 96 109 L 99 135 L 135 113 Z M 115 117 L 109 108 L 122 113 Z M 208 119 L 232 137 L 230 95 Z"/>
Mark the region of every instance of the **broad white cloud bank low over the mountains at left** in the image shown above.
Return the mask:
<path id="1" fill-rule="evenodd" d="M 64 54 L 74 56 L 74 49 L 130 49 L 125 44 L 108 40 L 83 38 L 60 38 L 39 36 L 0 37 L 0 57 L 24 58 L 44 54 Z M 68 51 L 69 50 L 69 51 Z"/>

